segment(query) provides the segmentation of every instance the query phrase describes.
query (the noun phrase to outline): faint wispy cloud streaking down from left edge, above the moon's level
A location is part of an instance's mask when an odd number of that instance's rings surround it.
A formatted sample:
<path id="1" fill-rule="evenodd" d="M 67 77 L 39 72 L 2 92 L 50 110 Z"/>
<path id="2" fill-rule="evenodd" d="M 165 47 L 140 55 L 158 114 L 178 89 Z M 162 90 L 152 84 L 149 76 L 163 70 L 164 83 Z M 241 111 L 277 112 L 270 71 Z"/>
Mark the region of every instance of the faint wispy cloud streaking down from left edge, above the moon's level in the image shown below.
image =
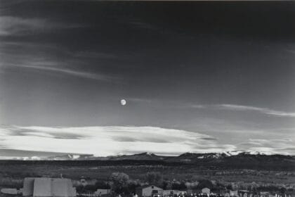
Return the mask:
<path id="1" fill-rule="evenodd" d="M 29 53 L 33 49 L 38 49 L 37 53 Z M 51 53 L 58 51 L 63 54 L 63 58 L 52 56 Z M 74 53 L 65 49 L 60 49 L 54 44 L 36 44 L 30 42 L 4 42 L 0 44 L 0 71 L 5 72 L 6 69 L 20 68 L 23 70 L 39 71 L 41 74 L 59 74 L 65 76 L 79 77 L 89 80 L 98 80 L 108 82 L 110 84 L 123 84 L 122 77 L 118 74 L 101 72 L 99 68 L 92 72 L 86 70 L 90 65 L 87 58 L 96 56 L 97 58 L 114 58 L 111 54 L 95 53 L 85 56 L 74 56 Z M 102 57 L 103 56 L 103 57 Z"/>

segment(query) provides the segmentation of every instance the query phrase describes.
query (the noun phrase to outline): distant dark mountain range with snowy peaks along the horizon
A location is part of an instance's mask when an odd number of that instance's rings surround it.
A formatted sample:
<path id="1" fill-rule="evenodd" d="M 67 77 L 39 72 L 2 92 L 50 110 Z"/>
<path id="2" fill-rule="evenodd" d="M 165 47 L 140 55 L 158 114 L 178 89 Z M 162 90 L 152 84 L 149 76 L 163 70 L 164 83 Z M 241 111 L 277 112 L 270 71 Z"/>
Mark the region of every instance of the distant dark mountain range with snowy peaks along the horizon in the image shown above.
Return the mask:
<path id="1" fill-rule="evenodd" d="M 177 156 L 137 153 L 96 157 L 90 154 L 66 154 L 50 157 L 15 158 L 1 160 L 3 165 L 167 165 L 191 166 L 200 169 L 295 170 L 295 155 L 266 155 L 259 152 L 230 151 L 223 153 L 183 153 Z"/>

